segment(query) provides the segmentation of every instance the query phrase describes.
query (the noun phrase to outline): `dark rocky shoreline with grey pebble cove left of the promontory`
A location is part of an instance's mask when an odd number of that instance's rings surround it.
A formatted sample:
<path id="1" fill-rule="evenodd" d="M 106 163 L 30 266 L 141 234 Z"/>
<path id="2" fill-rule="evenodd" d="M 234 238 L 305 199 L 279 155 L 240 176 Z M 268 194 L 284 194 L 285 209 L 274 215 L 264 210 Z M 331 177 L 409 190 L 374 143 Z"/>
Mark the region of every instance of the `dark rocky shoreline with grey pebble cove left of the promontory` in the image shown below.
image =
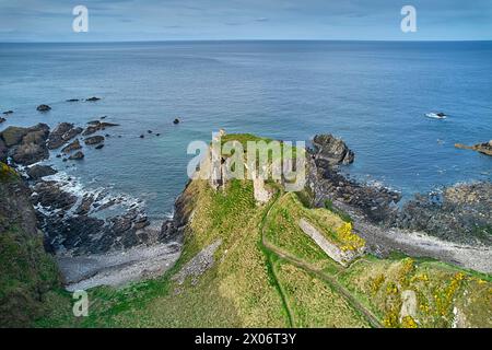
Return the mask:
<path id="1" fill-rule="evenodd" d="M 13 166 L 27 185 L 45 249 L 58 260 L 69 290 L 155 276 L 179 256 L 184 222 L 178 206 L 175 219 L 151 222 L 141 200 L 86 189 L 75 178 L 40 164 L 56 153 L 63 162 L 80 161 L 84 147 L 104 145 L 108 135 L 96 133 L 117 126 L 93 120 L 86 127 L 60 122 L 50 130 L 38 124 L 0 132 L 0 162 Z"/>

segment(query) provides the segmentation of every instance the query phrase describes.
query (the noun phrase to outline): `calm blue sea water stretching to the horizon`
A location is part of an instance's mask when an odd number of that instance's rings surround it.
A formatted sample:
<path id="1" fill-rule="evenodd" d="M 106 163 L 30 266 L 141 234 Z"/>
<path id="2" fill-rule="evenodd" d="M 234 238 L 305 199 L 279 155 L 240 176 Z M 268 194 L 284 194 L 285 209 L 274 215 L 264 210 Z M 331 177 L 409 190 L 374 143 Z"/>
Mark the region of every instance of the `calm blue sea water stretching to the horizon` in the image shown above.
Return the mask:
<path id="1" fill-rule="evenodd" d="M 103 100 L 65 102 L 93 95 Z M 52 110 L 37 113 L 40 103 Z M 356 154 L 350 174 L 407 197 L 492 179 L 492 158 L 454 148 L 492 139 L 492 42 L 0 44 L 0 109 L 15 110 L 0 128 L 103 115 L 120 124 L 67 172 L 142 197 L 154 217 L 187 182 L 188 142 L 219 128 L 288 140 L 332 132 Z M 441 110 L 448 119 L 423 117 Z M 162 136 L 140 139 L 148 129 Z"/>

